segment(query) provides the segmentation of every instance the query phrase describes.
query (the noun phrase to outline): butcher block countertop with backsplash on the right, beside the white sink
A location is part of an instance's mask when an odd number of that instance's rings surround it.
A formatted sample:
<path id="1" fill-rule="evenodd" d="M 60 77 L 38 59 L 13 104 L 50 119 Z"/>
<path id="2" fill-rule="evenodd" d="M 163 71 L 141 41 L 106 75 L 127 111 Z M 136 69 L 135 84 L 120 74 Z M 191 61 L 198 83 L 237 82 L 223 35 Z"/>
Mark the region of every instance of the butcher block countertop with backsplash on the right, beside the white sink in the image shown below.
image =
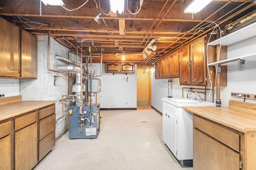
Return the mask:
<path id="1" fill-rule="evenodd" d="M 256 130 L 256 104 L 230 101 L 229 107 L 183 106 L 192 113 L 242 133 Z"/>

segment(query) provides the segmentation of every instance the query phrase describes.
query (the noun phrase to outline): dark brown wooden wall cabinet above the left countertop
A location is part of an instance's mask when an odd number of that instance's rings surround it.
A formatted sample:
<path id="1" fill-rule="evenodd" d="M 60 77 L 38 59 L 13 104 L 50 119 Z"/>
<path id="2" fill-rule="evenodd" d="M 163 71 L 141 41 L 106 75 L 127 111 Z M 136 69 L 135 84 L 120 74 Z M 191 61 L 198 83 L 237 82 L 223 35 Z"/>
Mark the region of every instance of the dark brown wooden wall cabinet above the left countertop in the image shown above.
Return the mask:
<path id="1" fill-rule="evenodd" d="M 0 78 L 37 78 L 37 38 L 0 18 Z"/>

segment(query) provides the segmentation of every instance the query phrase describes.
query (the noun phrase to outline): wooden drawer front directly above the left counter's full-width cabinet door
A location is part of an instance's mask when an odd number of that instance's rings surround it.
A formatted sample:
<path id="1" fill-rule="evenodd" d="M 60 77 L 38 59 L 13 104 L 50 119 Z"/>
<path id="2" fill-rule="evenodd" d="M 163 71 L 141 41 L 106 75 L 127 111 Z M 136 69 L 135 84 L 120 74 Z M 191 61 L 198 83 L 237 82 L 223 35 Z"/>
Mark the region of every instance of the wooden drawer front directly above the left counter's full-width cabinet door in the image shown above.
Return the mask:
<path id="1" fill-rule="evenodd" d="M 36 122 L 36 115 L 37 115 L 37 111 L 34 111 L 33 113 L 29 113 L 29 114 L 24 115 L 22 117 L 16 118 L 14 120 L 15 131 L 18 131 L 19 129 L 21 129 L 25 126 Z"/>

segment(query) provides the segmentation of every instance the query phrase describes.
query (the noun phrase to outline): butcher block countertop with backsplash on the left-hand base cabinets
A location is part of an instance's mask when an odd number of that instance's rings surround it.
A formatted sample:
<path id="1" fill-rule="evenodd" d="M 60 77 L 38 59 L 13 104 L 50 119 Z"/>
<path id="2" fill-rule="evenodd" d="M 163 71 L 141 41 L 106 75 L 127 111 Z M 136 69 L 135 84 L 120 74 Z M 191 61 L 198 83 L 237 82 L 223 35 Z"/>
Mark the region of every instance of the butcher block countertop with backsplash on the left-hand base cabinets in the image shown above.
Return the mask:
<path id="1" fill-rule="evenodd" d="M 55 104 L 57 101 L 21 101 L 21 96 L 0 98 L 0 121 Z"/>

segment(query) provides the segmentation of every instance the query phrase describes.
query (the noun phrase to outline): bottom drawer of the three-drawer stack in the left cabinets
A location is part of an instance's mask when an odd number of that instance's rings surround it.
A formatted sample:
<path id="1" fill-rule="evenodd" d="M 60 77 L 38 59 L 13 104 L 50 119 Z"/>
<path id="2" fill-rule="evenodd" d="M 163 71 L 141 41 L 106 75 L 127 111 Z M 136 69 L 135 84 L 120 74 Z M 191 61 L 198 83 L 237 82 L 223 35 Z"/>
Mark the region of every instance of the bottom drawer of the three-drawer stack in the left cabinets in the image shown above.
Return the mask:
<path id="1" fill-rule="evenodd" d="M 39 160 L 55 146 L 55 131 L 39 141 Z"/>

